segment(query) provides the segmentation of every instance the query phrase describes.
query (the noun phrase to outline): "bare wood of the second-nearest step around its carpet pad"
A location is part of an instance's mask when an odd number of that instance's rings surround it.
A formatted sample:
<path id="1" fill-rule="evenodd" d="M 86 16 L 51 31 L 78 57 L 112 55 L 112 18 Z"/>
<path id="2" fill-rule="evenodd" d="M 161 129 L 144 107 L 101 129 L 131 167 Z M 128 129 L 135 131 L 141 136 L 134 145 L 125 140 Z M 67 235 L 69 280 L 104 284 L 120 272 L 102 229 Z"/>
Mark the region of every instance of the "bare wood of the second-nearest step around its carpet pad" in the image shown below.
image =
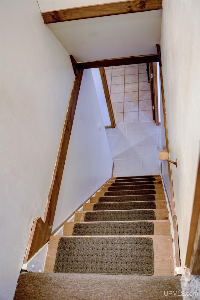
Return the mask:
<path id="1" fill-rule="evenodd" d="M 109 221 L 108 223 L 114 223 L 115 221 Z M 123 222 L 138 222 L 138 221 L 118 221 L 120 223 Z M 154 227 L 154 235 L 170 235 L 170 221 L 169 220 L 156 220 L 156 221 L 142 221 L 142 222 L 152 222 Z M 80 222 L 65 222 L 63 227 L 63 235 L 64 236 L 72 236 L 74 224 Z M 95 223 L 95 222 L 84 222 L 84 223 Z M 104 222 L 98 222 L 104 223 Z"/>

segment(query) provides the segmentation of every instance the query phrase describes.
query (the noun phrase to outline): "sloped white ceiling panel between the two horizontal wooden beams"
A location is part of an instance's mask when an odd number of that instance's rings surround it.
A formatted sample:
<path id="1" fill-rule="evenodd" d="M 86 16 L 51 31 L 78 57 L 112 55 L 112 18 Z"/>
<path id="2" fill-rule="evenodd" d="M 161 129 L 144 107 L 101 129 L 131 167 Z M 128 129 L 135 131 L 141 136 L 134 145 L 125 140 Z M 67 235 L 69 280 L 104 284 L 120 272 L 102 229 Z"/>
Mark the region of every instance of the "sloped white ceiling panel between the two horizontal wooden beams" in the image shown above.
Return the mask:
<path id="1" fill-rule="evenodd" d="M 156 54 L 162 10 L 48 24 L 77 62 Z"/>

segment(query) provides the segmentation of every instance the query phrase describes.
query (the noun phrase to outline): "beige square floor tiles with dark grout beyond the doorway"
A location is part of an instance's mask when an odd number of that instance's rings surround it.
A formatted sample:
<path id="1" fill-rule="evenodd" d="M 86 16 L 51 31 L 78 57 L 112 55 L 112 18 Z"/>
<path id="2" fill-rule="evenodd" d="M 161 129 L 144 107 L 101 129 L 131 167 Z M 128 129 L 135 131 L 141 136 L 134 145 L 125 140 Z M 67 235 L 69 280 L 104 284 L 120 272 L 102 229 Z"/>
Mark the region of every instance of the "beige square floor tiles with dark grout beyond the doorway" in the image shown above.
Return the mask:
<path id="1" fill-rule="evenodd" d="M 116 124 L 153 121 L 146 64 L 105 68 Z"/>

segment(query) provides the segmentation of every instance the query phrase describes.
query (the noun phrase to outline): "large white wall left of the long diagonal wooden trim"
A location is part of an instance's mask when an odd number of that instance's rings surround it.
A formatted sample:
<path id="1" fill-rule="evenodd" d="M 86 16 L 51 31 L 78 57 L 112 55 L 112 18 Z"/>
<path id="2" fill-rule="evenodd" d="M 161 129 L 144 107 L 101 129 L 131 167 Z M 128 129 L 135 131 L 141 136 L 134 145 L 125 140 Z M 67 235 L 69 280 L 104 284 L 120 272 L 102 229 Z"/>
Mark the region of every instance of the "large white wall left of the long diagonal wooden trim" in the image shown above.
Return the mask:
<path id="1" fill-rule="evenodd" d="M 44 215 L 73 78 L 37 1 L 1 1 L 3 300 L 13 298 L 32 222 Z"/>

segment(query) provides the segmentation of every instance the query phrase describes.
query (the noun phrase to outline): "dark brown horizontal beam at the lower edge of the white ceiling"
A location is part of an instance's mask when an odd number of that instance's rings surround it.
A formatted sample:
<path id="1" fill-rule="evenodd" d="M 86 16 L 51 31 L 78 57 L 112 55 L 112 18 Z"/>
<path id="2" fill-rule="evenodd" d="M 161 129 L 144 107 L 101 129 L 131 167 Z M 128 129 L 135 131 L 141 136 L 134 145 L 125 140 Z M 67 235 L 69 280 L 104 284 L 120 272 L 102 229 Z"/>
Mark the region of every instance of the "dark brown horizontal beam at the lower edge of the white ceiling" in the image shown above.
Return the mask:
<path id="1" fill-rule="evenodd" d="M 90 69 L 90 68 L 105 68 L 113 66 L 123 66 L 128 64 L 144 64 L 154 63 L 158 61 L 157 54 L 129 56 L 121 58 L 111 58 L 103 60 L 93 60 L 77 63 L 78 69 Z"/>

